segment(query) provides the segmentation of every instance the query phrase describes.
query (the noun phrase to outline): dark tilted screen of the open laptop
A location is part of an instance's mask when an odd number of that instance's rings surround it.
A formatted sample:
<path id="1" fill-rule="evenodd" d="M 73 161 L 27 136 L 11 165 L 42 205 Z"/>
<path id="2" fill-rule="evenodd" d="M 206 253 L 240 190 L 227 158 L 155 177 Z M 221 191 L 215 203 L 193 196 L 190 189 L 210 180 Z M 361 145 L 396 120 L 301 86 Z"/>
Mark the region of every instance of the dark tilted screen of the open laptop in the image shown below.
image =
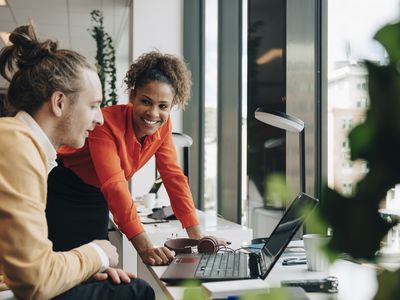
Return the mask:
<path id="1" fill-rule="evenodd" d="M 262 248 L 261 278 L 264 279 L 267 276 L 277 260 L 276 256 L 282 254 L 287 244 L 304 223 L 304 220 L 307 217 L 301 215 L 301 213 L 304 213 L 304 208 L 313 208 L 317 203 L 317 199 L 304 193 L 300 193 L 296 199 L 293 200 L 292 204 L 286 210 L 282 219 L 279 221 L 275 230 L 271 233 L 269 239 Z M 310 211 L 311 209 L 309 212 Z"/>

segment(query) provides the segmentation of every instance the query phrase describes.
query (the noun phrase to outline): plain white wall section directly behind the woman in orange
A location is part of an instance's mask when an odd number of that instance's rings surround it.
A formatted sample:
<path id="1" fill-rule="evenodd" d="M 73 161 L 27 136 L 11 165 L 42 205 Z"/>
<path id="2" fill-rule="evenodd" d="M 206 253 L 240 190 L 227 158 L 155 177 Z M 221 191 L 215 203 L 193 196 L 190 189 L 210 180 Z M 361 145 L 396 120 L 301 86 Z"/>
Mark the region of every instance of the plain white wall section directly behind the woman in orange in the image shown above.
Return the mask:
<path id="1" fill-rule="evenodd" d="M 183 1 L 133 0 L 133 59 L 154 49 L 183 55 Z M 171 118 L 173 130 L 182 132 L 182 112 L 174 110 Z M 132 195 L 147 193 L 154 176 L 152 159 L 133 177 Z M 166 197 L 165 190 L 161 190 L 159 196 Z"/>

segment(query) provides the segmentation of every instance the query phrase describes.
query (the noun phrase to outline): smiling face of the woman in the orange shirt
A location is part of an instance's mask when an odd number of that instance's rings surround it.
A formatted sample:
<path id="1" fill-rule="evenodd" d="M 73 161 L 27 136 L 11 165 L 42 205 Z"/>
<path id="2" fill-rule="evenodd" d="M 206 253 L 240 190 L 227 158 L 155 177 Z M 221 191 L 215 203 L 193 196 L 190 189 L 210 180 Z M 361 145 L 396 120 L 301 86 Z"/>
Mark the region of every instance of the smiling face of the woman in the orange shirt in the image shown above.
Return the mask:
<path id="1" fill-rule="evenodd" d="M 131 94 L 133 130 L 139 142 L 167 122 L 174 95 L 171 85 L 158 81 L 151 81 Z"/>

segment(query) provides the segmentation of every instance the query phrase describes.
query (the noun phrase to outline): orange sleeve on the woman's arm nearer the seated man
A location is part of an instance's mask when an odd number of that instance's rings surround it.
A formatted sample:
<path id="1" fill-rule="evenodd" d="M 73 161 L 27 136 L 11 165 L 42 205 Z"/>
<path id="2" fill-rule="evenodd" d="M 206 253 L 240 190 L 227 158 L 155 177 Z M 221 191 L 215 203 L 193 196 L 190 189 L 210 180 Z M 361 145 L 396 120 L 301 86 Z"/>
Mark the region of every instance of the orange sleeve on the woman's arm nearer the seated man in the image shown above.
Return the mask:
<path id="1" fill-rule="evenodd" d="M 131 239 L 144 229 L 121 167 L 116 141 L 107 127 L 101 126 L 88 139 L 88 146 L 100 190 L 107 200 L 114 221 L 126 237 Z"/>

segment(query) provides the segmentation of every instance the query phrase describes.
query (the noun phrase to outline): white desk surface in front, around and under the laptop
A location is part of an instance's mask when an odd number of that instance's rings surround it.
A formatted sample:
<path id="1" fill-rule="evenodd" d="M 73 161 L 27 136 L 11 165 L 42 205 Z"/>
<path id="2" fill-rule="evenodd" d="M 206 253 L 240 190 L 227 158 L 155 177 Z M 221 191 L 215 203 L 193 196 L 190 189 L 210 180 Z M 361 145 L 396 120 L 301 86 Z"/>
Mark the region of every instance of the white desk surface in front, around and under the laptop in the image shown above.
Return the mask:
<path id="1" fill-rule="evenodd" d="M 155 288 L 157 299 L 183 299 L 184 288 L 166 286 L 159 280 L 167 267 L 150 267 L 139 263 L 138 268 L 141 270 L 141 276 Z M 311 300 L 371 300 L 378 289 L 375 268 L 345 260 L 336 261 L 328 272 L 309 272 L 306 265 L 283 266 L 281 258 L 264 282 L 267 287 L 280 287 L 281 280 L 323 279 L 328 275 L 338 278 L 339 293 L 308 293 Z M 246 286 L 248 281 L 236 282 L 238 286 Z M 223 284 L 224 282 L 221 282 L 221 285 Z"/>

